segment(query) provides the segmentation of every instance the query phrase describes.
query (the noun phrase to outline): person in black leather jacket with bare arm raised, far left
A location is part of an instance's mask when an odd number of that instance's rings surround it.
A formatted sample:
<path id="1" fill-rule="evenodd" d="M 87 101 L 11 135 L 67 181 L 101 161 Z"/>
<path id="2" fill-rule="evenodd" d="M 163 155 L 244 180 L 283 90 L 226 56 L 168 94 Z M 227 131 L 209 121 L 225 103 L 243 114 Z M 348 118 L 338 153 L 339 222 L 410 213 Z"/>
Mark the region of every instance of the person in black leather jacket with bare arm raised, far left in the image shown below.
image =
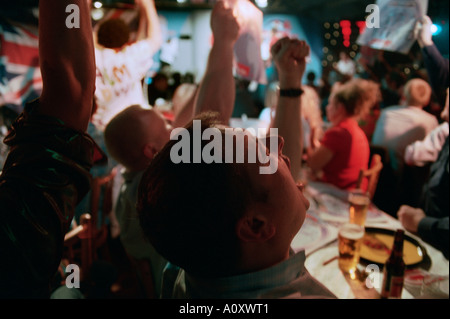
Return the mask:
<path id="1" fill-rule="evenodd" d="M 80 8 L 80 28 L 64 26 Z M 90 186 L 94 46 L 85 0 L 39 3 L 44 91 L 13 123 L 0 175 L 0 298 L 48 298 L 75 206 Z M 45 41 L 43 41 L 45 39 Z"/>

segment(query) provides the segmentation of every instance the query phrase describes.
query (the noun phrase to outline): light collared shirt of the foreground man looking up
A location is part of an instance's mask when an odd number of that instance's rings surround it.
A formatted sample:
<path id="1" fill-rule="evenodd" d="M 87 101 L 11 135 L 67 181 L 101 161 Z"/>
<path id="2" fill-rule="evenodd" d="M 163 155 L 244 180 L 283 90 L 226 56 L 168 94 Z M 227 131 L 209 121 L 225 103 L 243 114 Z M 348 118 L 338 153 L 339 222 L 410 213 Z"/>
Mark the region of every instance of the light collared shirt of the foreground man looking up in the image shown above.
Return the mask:
<path id="1" fill-rule="evenodd" d="M 305 251 L 257 272 L 223 278 L 199 278 L 169 265 L 164 272 L 162 298 L 281 299 L 336 298 L 305 268 Z"/>

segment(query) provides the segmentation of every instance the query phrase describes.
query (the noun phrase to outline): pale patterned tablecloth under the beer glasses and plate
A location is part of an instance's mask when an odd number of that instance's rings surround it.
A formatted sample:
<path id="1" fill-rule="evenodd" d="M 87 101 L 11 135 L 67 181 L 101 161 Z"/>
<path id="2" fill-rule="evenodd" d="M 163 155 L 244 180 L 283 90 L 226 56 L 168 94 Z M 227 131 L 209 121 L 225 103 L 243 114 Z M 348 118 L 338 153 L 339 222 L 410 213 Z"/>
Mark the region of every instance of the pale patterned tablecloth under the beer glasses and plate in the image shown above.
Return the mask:
<path id="1" fill-rule="evenodd" d="M 380 298 L 382 266 L 360 261 L 355 278 L 344 275 L 338 266 L 337 231 L 339 225 L 348 220 L 347 194 L 327 184 L 309 183 L 305 196 L 310 200 L 310 209 L 304 225 L 293 240 L 292 248 L 296 251 L 305 249 L 309 272 L 338 298 Z M 403 228 L 397 219 L 374 206 L 368 211 L 366 227 L 390 230 Z M 407 269 L 402 299 L 437 298 L 438 295 L 429 293 L 431 289 L 423 284 L 424 277 L 437 278 L 441 283 L 440 287 L 446 289 L 448 298 L 448 260 L 440 251 L 417 236 L 407 231 L 405 234 L 417 240 L 425 248 L 426 255 L 423 262 Z M 424 291 L 427 295 L 424 295 Z"/>

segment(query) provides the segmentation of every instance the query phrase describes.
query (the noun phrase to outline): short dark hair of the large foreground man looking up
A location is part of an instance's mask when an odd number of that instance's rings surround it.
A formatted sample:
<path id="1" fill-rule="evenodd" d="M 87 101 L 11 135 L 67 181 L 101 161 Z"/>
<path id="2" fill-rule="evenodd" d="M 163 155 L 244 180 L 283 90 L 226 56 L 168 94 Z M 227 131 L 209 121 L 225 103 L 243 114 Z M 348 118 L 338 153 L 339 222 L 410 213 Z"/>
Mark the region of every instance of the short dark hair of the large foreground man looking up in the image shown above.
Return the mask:
<path id="1" fill-rule="evenodd" d="M 217 118 L 211 113 L 198 117 L 202 132 L 215 127 Z M 186 129 L 192 157 L 192 123 Z M 137 202 L 141 227 L 164 258 L 188 273 L 230 275 L 240 257 L 237 221 L 258 196 L 246 164 L 206 164 L 203 160 L 174 164 L 170 152 L 177 142 L 166 144 L 141 179 Z M 208 142 L 202 141 L 202 148 Z"/>

